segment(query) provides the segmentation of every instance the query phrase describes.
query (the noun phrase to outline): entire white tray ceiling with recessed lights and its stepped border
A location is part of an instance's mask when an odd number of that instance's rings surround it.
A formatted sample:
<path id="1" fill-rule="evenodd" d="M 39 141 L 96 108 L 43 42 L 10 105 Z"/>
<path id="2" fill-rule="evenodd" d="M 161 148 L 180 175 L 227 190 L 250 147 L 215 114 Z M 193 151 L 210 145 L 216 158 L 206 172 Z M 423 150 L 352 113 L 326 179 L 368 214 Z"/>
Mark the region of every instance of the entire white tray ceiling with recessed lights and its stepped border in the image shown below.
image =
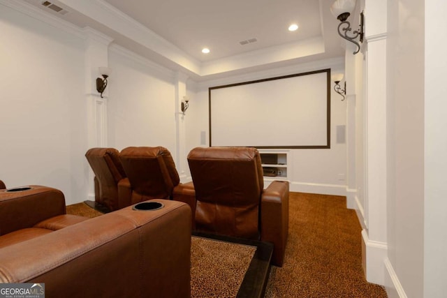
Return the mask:
<path id="1" fill-rule="evenodd" d="M 334 0 L 50 1 L 66 15 L 24 1 L 194 80 L 344 56 Z"/>

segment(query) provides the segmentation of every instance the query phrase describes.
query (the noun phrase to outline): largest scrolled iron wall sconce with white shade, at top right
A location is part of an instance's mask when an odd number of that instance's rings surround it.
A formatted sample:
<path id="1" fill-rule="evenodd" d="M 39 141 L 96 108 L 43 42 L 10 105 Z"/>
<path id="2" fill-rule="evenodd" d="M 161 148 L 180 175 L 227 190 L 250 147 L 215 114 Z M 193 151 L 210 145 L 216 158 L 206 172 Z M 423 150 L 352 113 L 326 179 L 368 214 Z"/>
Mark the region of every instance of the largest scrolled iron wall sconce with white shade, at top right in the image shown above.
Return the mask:
<path id="1" fill-rule="evenodd" d="M 356 31 L 353 31 L 351 33 L 351 36 L 348 35 L 352 31 L 351 23 L 349 23 L 348 17 L 351 15 L 352 10 L 354 10 L 354 7 L 356 7 L 356 0 L 337 0 L 335 1 L 332 6 L 330 6 L 330 11 L 334 17 L 337 17 L 337 19 L 341 22 L 338 25 L 338 34 L 339 36 L 342 36 L 342 38 L 351 41 L 351 43 L 354 43 L 357 45 L 358 49 L 353 52 L 353 54 L 357 54 L 360 51 L 360 43 L 363 42 L 363 22 L 364 22 L 364 16 L 363 12 L 360 13 L 360 24 L 358 25 L 359 29 Z M 358 43 L 355 39 L 360 36 L 360 43 Z"/>

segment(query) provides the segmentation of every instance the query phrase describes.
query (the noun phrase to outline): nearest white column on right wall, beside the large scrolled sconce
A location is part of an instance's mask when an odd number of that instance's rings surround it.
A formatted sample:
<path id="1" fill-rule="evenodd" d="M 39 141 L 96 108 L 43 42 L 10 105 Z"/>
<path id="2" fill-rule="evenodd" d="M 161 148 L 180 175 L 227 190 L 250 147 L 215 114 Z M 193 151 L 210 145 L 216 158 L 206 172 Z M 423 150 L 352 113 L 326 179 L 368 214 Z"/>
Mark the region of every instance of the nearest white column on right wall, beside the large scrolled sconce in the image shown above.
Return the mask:
<path id="1" fill-rule="evenodd" d="M 367 281 L 384 285 L 387 245 L 386 0 L 365 1 L 365 225 Z"/>

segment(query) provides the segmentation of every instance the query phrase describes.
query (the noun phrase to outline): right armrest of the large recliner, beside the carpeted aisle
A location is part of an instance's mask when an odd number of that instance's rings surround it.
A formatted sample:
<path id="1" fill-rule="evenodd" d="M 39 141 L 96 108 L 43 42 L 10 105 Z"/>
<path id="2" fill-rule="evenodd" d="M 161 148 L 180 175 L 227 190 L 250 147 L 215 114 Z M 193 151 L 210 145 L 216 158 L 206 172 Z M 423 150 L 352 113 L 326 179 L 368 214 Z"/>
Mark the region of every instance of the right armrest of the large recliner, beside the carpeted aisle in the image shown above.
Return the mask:
<path id="1" fill-rule="evenodd" d="M 288 237 L 288 181 L 273 181 L 261 196 L 261 241 L 274 244 L 272 264 L 281 267 Z"/>

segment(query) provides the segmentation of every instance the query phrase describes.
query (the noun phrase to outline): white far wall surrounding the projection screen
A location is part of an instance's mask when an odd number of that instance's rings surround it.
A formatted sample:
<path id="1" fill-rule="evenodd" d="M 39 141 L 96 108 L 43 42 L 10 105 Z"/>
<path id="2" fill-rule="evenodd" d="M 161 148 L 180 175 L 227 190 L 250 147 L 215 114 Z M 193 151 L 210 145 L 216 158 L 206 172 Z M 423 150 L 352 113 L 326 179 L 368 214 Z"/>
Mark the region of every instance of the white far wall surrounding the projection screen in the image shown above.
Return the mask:
<path id="1" fill-rule="evenodd" d="M 196 95 L 191 100 L 191 111 L 188 111 L 189 125 L 187 148 L 209 145 L 208 119 L 208 88 L 223 84 L 247 82 L 262 78 L 303 73 L 306 71 L 332 68 L 337 73 L 343 73 L 343 61 L 317 61 L 313 64 L 277 68 L 269 72 L 251 73 L 249 75 L 227 77 L 222 80 L 200 82 Z M 330 84 L 333 90 L 333 82 Z M 346 101 L 331 91 L 331 145 L 330 149 L 291 149 L 291 168 L 288 176 L 291 181 L 291 191 L 307 193 L 327 193 L 346 195 L 346 144 L 337 144 L 336 126 L 346 125 Z M 228 119 L 230 121 L 230 118 Z M 277 132 L 284 135 L 293 133 L 293 127 L 278 122 Z M 200 133 L 205 131 L 206 144 L 200 144 Z M 342 180 L 341 180 L 342 179 Z"/>

